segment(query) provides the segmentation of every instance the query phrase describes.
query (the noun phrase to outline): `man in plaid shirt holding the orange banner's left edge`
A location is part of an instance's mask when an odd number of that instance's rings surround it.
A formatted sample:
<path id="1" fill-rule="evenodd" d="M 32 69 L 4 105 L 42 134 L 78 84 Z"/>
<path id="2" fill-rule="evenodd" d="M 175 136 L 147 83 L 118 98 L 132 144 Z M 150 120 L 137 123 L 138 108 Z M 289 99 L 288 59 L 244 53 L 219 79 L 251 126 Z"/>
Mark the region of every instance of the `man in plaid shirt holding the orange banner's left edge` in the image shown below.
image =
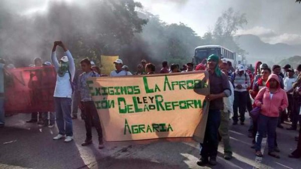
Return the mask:
<path id="1" fill-rule="evenodd" d="M 95 129 L 98 133 L 98 148 L 101 149 L 104 147 L 102 141 L 102 128 L 100 125 L 99 116 L 97 113 L 97 109 L 92 100 L 89 88 L 87 86 L 87 79 L 89 77 L 99 77 L 100 75 L 91 69 L 91 62 L 89 59 L 83 59 L 80 62 L 83 73 L 79 75 L 78 78 L 78 91 L 80 92 L 80 109 L 83 109 L 82 117 L 85 121 L 86 127 L 86 139 L 81 144 L 82 146 L 87 146 L 92 144 L 92 122 L 95 126 Z"/>

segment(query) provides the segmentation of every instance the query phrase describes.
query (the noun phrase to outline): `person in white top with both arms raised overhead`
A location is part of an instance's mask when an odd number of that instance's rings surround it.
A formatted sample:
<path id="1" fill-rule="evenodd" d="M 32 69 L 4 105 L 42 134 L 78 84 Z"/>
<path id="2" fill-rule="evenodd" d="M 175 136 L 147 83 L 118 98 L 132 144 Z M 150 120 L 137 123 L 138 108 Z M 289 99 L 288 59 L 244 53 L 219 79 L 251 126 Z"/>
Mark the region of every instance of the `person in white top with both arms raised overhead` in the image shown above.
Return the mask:
<path id="1" fill-rule="evenodd" d="M 60 61 L 56 56 L 56 47 L 60 46 L 64 49 L 65 55 Z M 73 127 L 71 118 L 71 95 L 72 86 L 75 74 L 74 59 L 70 51 L 62 43 L 62 41 L 55 41 L 51 53 L 51 60 L 57 73 L 57 81 L 54 91 L 54 104 L 56 111 L 56 122 L 59 129 L 59 134 L 54 137 L 54 140 L 65 137 L 65 142 L 73 140 Z"/>

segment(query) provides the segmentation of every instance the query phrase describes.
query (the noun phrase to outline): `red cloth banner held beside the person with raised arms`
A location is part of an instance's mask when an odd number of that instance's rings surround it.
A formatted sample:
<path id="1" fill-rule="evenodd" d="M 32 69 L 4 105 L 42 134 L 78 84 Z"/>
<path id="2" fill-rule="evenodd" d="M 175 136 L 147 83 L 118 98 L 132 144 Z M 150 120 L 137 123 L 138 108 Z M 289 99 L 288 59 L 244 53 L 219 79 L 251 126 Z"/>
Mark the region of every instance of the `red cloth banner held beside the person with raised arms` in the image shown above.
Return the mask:
<path id="1" fill-rule="evenodd" d="M 5 113 L 54 111 L 53 66 L 9 70 L 5 78 Z"/>

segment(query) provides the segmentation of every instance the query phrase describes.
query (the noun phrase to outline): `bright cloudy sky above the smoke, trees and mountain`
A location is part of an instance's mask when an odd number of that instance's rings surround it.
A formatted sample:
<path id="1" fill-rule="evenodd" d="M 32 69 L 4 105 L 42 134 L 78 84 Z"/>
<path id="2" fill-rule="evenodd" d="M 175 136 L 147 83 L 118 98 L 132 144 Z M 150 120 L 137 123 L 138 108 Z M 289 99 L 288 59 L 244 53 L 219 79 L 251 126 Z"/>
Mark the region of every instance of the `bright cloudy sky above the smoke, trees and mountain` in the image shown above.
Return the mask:
<path id="1" fill-rule="evenodd" d="M 145 11 L 168 24 L 184 23 L 198 35 L 213 30 L 221 13 L 232 7 L 248 24 L 237 35 L 253 34 L 266 43 L 301 44 L 301 4 L 294 0 L 137 0 Z"/>

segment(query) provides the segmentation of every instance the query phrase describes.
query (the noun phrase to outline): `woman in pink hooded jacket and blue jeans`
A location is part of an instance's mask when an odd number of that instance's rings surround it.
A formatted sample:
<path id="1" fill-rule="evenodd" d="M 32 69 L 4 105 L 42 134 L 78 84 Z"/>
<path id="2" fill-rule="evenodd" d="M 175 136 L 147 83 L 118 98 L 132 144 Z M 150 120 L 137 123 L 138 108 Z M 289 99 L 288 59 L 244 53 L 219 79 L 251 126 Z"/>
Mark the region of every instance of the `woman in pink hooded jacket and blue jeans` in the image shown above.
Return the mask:
<path id="1" fill-rule="evenodd" d="M 280 88 L 279 77 L 271 74 L 266 82 L 266 87 L 262 88 L 255 98 L 256 106 L 261 108 L 258 117 L 258 130 L 256 134 L 256 156 L 262 157 L 261 141 L 263 135 L 267 133 L 268 154 L 275 158 L 280 156 L 274 151 L 275 132 L 278 123 L 279 113 L 287 106 L 286 92 Z"/>

